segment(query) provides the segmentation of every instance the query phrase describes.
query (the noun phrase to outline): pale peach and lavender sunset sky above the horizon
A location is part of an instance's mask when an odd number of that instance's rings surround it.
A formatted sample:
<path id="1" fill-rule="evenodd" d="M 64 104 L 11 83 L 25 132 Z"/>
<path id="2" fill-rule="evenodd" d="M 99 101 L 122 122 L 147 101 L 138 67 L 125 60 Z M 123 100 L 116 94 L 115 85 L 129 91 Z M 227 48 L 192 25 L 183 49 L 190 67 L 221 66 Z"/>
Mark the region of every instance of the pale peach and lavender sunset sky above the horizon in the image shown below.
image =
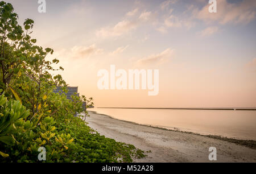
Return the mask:
<path id="1" fill-rule="evenodd" d="M 256 107 L 256 1 L 7 1 L 96 107 Z M 159 93 L 100 90 L 101 69 L 158 69 Z"/>

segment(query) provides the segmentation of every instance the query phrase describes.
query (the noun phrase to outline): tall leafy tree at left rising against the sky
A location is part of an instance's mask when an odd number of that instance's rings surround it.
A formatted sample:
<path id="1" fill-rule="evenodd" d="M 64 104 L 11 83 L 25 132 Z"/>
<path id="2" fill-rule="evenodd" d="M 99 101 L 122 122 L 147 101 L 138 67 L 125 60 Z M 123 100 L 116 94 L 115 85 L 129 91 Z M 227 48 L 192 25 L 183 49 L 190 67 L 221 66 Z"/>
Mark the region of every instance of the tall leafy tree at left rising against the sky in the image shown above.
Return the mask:
<path id="1" fill-rule="evenodd" d="M 45 96 L 55 86 L 66 85 L 60 75 L 52 76 L 49 72 L 63 68 L 53 68 L 53 64 L 59 63 L 57 59 L 46 60 L 53 49 L 43 49 L 35 45 L 36 39 L 31 39 L 32 19 L 25 20 L 23 30 L 13 6 L 3 1 L 0 2 L 0 18 L 0 88 L 7 97 L 12 94 L 10 88 L 22 96 L 24 105 L 32 111 L 32 117 L 42 108 Z"/>

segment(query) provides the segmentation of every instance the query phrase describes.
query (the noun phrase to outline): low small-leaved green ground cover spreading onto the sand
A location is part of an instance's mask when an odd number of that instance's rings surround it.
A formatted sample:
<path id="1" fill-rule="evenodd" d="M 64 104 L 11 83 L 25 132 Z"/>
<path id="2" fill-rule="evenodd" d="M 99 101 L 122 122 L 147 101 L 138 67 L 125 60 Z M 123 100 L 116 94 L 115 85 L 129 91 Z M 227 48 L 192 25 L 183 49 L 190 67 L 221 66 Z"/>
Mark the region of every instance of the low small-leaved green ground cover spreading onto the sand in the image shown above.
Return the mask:
<path id="1" fill-rule="evenodd" d="M 57 131 L 61 134 L 70 134 L 74 139 L 68 145 L 69 159 L 77 162 L 111 163 L 131 162 L 131 158 L 143 158 L 145 155 L 133 145 L 115 142 L 114 139 L 105 138 L 98 132 L 90 129 L 80 118 L 73 118 L 72 122 L 59 120 L 56 122 Z"/>

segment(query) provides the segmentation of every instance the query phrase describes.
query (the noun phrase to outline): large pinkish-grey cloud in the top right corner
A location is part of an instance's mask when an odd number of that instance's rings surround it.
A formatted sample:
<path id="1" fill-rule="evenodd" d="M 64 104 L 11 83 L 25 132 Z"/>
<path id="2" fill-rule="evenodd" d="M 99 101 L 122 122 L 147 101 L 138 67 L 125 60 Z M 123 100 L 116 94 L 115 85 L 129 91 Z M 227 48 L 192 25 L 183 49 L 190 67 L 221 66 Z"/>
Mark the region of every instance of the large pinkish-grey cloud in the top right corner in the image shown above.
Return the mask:
<path id="1" fill-rule="evenodd" d="M 203 9 L 195 11 L 193 15 L 206 23 L 247 24 L 255 19 L 256 1 L 243 0 L 240 3 L 229 3 L 227 0 L 218 0 L 217 13 L 209 13 L 208 9 L 209 5 L 205 5 Z"/>

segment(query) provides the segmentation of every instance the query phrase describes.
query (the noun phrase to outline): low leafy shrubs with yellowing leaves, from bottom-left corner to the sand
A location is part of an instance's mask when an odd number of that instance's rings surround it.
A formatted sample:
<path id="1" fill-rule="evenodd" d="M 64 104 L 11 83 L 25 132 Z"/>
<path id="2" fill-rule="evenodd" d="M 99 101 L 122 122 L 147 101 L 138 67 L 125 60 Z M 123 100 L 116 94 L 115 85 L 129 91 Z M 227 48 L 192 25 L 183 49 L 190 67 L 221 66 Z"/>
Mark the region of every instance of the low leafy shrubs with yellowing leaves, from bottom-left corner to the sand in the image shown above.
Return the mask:
<path id="1" fill-rule="evenodd" d="M 132 157 L 145 156 L 130 144 L 101 136 L 73 115 L 70 115 L 72 121 L 68 117 L 46 117 L 40 126 L 34 126 L 33 122 L 25 120 L 29 113 L 19 101 L 8 102 L 3 95 L 0 99 L 1 115 L 5 115 L 1 116 L 1 123 L 5 123 L 1 125 L 11 125 L 13 133 L 8 136 L 11 143 L 0 143 L 0 149 L 9 153 L 1 152 L 5 157 L 0 158 L 1 162 L 39 162 L 39 147 L 46 147 L 46 162 L 131 162 Z M 8 106 L 4 110 L 2 103 Z"/>

